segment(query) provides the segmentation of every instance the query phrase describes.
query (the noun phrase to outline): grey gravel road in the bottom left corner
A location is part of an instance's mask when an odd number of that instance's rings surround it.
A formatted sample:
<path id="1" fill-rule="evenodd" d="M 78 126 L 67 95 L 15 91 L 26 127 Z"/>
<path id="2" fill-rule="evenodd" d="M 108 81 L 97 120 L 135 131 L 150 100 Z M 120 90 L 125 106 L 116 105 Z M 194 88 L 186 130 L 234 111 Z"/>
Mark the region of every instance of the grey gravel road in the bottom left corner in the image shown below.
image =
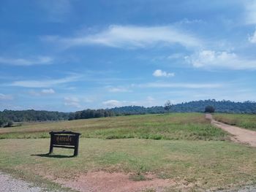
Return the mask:
<path id="1" fill-rule="evenodd" d="M 0 172 L 0 192 L 39 192 L 42 188 L 34 187 L 31 183 L 11 177 L 9 174 Z"/>

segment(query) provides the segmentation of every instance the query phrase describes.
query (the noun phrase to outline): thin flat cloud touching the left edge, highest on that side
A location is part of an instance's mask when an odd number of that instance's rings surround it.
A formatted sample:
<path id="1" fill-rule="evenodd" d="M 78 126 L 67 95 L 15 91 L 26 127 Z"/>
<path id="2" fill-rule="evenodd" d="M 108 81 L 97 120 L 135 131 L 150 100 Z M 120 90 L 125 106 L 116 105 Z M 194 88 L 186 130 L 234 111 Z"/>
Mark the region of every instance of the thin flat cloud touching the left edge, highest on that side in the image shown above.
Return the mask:
<path id="1" fill-rule="evenodd" d="M 40 64 L 51 64 L 53 58 L 48 56 L 37 56 L 36 58 L 3 58 L 0 57 L 0 64 L 15 66 L 32 66 Z"/>

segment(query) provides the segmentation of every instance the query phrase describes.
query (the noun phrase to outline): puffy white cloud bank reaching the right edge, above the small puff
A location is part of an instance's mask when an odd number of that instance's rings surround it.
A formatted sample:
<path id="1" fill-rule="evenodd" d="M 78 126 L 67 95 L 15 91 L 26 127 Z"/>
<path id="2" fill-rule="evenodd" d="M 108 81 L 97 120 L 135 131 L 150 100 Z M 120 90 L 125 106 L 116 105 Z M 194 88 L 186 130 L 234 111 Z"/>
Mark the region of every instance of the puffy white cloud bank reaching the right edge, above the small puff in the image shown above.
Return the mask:
<path id="1" fill-rule="evenodd" d="M 256 61 L 240 58 L 236 53 L 203 50 L 185 57 L 189 64 L 197 68 L 216 69 L 256 69 Z"/>

